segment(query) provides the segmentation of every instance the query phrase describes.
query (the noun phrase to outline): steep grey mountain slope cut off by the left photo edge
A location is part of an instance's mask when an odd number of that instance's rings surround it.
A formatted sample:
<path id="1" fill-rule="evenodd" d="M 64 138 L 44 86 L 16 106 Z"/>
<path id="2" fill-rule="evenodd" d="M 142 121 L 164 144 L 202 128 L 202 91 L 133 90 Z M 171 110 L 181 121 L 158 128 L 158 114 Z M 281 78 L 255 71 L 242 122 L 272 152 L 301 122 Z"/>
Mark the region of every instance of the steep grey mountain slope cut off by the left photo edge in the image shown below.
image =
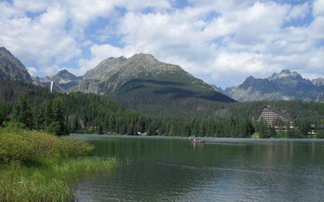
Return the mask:
<path id="1" fill-rule="evenodd" d="M 0 80 L 33 82 L 26 67 L 5 47 L 0 47 Z"/>

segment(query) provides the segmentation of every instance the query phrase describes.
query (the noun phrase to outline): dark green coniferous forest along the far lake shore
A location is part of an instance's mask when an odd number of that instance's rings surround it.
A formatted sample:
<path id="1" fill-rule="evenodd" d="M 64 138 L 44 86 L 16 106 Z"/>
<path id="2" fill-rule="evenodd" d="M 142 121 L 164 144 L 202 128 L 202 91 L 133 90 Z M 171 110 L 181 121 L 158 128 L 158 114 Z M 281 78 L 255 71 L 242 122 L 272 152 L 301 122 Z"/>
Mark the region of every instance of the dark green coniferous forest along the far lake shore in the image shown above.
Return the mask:
<path id="1" fill-rule="evenodd" d="M 256 122 L 263 105 L 295 119 L 295 127 L 278 133 Z M 192 103 L 190 106 L 194 106 Z M 251 137 L 305 137 L 315 124 L 320 131 L 324 104 L 296 101 L 245 103 L 210 102 L 206 111 L 177 118 L 141 115 L 127 110 L 107 96 L 83 92 L 50 92 L 46 87 L 17 81 L 0 81 L 0 123 L 21 122 L 28 129 L 57 135 L 68 133 Z M 166 112 L 168 114 L 168 112 Z M 186 114 L 187 115 L 187 114 Z M 180 117 L 180 118 L 179 118 Z M 284 124 L 284 123 L 282 123 Z M 320 136 L 320 132 L 318 133 Z"/>

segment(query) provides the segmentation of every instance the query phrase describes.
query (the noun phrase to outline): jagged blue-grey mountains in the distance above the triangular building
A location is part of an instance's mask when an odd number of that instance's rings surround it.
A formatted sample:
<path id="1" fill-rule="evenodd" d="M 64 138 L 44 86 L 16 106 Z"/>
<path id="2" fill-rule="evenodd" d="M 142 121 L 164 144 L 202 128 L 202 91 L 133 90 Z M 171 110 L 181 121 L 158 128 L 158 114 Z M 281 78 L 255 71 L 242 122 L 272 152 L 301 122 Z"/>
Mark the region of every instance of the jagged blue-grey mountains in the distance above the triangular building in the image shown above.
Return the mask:
<path id="1" fill-rule="evenodd" d="M 251 100 L 305 100 L 315 101 L 324 86 L 315 86 L 298 72 L 282 70 L 269 78 L 248 77 L 242 84 L 228 87 L 225 94 L 238 101 Z"/>

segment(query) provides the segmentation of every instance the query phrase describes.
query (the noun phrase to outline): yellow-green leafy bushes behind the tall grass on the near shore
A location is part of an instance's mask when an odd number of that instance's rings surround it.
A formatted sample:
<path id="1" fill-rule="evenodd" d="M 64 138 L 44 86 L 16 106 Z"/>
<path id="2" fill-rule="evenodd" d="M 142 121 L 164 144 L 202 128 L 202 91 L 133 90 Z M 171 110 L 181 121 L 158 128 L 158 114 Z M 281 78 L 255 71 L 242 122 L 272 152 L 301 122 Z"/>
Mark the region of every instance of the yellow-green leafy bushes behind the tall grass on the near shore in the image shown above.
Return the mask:
<path id="1" fill-rule="evenodd" d="M 60 139 L 38 131 L 0 130 L 0 163 L 51 164 L 69 157 L 92 155 L 94 146 L 84 140 Z"/>

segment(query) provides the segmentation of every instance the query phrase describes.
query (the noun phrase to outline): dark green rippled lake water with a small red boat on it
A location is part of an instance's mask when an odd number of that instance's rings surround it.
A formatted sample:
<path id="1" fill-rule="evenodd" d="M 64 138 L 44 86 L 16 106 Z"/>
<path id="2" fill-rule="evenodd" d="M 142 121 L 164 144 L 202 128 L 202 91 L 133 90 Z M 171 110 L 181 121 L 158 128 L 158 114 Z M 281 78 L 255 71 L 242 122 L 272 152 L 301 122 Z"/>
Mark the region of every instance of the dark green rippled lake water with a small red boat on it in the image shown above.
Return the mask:
<path id="1" fill-rule="evenodd" d="M 77 201 L 324 201 L 324 141 L 72 135 L 129 159 L 74 186 Z"/>

